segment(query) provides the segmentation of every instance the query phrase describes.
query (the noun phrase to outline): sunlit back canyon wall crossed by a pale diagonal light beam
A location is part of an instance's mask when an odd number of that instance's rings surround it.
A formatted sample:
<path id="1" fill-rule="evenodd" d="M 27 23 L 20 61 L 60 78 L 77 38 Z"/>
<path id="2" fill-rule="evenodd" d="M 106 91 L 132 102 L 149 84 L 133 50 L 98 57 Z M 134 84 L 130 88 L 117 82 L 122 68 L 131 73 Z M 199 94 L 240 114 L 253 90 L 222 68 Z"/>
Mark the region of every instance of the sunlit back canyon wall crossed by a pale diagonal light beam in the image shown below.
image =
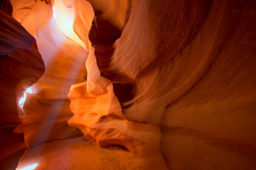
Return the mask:
<path id="1" fill-rule="evenodd" d="M 16 130 L 24 132 L 30 146 L 81 136 L 77 128 L 67 125 L 73 115 L 67 93 L 72 84 L 85 81 L 88 55 L 85 44 L 72 31 L 73 8 L 61 1 L 52 6 L 41 1 L 25 2 L 13 2 L 13 16 L 17 20 L 25 18 L 22 26 L 36 38 L 45 73 L 31 86 L 33 93 L 27 95 L 23 106 L 27 116 Z M 26 12 L 18 12 L 23 9 L 30 9 L 25 17 Z"/>

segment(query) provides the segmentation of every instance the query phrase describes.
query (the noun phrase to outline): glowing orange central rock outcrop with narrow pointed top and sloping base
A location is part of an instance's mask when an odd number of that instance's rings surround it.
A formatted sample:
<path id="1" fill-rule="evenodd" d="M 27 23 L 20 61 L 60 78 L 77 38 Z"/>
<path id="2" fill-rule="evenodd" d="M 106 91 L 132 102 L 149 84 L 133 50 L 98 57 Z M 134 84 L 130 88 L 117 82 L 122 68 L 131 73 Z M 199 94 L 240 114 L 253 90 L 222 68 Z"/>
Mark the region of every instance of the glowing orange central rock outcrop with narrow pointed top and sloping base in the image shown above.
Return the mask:
<path id="1" fill-rule="evenodd" d="M 102 148 L 129 150 L 141 169 L 167 169 L 160 153 L 160 127 L 125 119 L 112 83 L 100 75 L 93 47 L 86 68 L 87 82 L 73 85 L 68 94 L 74 113 L 68 124 L 78 127 L 86 139 Z"/>

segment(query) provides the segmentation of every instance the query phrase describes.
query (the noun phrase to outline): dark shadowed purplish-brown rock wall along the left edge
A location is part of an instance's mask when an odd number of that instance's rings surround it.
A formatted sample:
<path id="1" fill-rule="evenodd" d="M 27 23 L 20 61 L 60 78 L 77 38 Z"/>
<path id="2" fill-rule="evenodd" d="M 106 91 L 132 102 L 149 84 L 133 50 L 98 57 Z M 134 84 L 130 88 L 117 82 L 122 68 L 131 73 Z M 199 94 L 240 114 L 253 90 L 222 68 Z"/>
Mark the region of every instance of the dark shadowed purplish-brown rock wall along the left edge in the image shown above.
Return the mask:
<path id="1" fill-rule="evenodd" d="M 10 16 L 11 3 L 2 1 L 0 6 L 0 169 L 9 170 L 27 150 L 24 135 L 12 133 L 24 114 L 17 103 L 45 66 L 36 40 Z"/>

